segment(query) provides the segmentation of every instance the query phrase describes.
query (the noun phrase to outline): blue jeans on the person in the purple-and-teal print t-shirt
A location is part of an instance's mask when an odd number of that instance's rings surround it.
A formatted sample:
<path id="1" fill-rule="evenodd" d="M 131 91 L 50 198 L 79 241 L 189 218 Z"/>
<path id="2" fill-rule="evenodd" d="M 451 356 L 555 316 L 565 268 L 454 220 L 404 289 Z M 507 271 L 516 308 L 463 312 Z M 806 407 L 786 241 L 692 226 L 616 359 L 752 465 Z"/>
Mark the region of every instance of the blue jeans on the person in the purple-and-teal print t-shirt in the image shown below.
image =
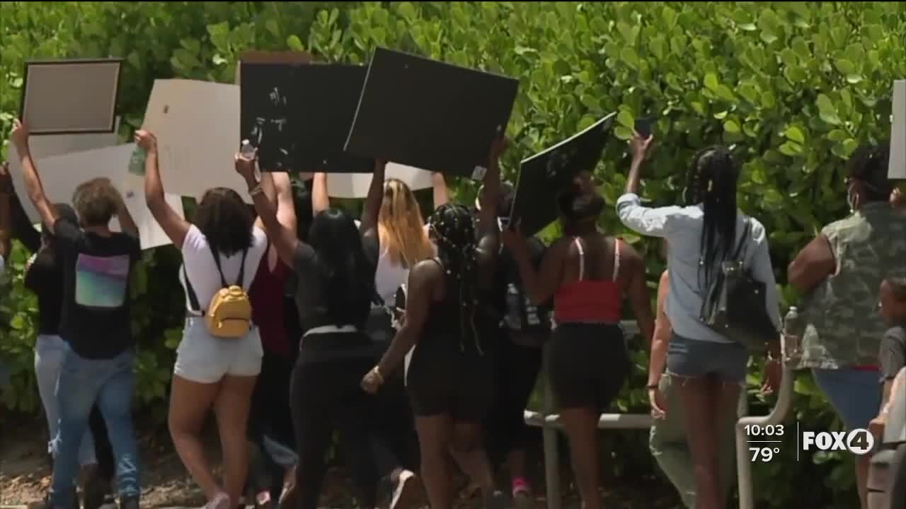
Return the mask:
<path id="1" fill-rule="evenodd" d="M 132 430 L 133 351 L 113 359 L 84 359 L 70 350 L 63 358 L 57 382 L 60 429 L 53 458 L 53 507 L 72 506 L 72 479 L 79 468 L 79 445 L 88 430 L 95 401 L 107 424 L 116 461 L 120 499 L 139 496 L 139 454 Z"/>

